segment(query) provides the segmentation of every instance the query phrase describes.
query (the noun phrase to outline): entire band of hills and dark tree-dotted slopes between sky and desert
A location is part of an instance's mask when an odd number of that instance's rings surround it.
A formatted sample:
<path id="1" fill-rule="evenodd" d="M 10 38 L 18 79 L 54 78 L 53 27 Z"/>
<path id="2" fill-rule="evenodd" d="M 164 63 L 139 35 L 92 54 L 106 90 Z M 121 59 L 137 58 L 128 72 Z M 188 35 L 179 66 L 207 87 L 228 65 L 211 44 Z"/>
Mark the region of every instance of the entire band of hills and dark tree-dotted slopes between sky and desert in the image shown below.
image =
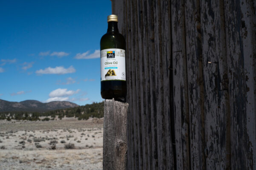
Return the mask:
<path id="1" fill-rule="evenodd" d="M 104 102 L 93 102 L 92 104 L 79 106 L 71 102 L 41 103 L 36 100 L 26 100 L 23 102 L 8 102 L 5 100 L 0 100 L 0 108 L 2 110 L 3 105 L 4 108 L 9 108 L 9 111 L 0 111 L 0 120 L 6 119 L 8 121 L 11 119 L 48 121 L 55 120 L 56 116 L 58 116 L 58 119 L 62 119 L 64 117 L 76 117 L 78 120 L 87 120 L 89 117 L 102 118 L 104 116 Z M 51 110 L 45 111 L 46 108 Z M 57 109 L 52 110 L 53 108 Z M 12 111 L 10 111 L 11 109 Z M 40 119 L 41 116 L 51 116 L 51 119 L 49 117 Z"/>

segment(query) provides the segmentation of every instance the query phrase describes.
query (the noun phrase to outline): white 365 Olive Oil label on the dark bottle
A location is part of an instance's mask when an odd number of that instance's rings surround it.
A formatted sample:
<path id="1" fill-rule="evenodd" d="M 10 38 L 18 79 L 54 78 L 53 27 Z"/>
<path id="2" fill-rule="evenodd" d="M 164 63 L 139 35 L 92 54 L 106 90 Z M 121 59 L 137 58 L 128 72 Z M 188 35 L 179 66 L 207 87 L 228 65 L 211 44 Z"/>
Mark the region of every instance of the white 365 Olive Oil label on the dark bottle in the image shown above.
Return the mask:
<path id="1" fill-rule="evenodd" d="M 126 80 L 125 50 L 108 48 L 100 51 L 101 81 Z"/>

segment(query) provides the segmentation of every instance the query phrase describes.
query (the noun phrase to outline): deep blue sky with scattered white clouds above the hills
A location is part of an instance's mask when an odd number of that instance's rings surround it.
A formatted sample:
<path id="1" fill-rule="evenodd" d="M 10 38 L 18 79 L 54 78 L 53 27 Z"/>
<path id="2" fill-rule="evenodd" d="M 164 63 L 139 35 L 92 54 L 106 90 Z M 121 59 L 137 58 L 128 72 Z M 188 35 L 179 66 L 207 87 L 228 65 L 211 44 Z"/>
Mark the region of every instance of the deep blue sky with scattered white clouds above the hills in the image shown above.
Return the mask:
<path id="1" fill-rule="evenodd" d="M 0 99 L 101 102 L 111 0 L 0 1 Z"/>

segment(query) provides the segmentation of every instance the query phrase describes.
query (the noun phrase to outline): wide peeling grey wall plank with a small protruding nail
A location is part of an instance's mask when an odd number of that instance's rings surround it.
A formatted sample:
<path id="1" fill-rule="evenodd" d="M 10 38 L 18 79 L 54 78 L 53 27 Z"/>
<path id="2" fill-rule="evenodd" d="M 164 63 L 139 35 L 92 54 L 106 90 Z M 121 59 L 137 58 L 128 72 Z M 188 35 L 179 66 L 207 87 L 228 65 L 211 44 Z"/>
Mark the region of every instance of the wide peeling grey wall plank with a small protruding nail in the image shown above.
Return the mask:
<path id="1" fill-rule="evenodd" d="M 224 6 L 219 0 L 201 0 L 201 37 L 204 77 L 205 156 L 207 169 L 227 169 L 226 143 L 229 113 L 227 96 Z M 229 127 L 228 127 L 229 128 Z M 226 146 L 227 144 L 227 146 Z M 227 149 L 227 150 L 226 150 Z M 228 153 L 228 154 L 227 154 Z"/>

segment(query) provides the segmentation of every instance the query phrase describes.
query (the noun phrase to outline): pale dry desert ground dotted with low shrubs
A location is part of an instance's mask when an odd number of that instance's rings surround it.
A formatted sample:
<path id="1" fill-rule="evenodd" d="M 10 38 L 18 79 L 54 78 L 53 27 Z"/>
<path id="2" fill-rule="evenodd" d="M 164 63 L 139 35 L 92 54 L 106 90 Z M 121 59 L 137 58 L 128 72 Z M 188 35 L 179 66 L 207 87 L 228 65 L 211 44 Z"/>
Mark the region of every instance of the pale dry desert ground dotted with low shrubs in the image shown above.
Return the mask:
<path id="1" fill-rule="evenodd" d="M 103 119 L 0 121 L 0 170 L 102 170 Z"/>

